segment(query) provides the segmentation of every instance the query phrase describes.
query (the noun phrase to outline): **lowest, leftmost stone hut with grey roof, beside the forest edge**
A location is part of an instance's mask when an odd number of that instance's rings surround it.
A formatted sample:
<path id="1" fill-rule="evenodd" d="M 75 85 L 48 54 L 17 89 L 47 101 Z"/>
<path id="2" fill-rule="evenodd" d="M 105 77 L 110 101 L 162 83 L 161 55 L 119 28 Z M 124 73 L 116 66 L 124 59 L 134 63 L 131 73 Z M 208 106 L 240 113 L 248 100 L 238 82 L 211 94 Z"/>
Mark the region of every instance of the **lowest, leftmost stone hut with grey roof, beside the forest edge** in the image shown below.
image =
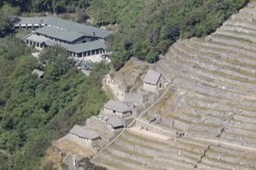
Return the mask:
<path id="1" fill-rule="evenodd" d="M 91 150 L 97 145 L 97 142 L 101 139 L 99 134 L 93 132 L 92 130 L 75 125 L 67 134 L 67 139 L 74 141 L 76 144 L 81 146 L 86 146 Z"/>

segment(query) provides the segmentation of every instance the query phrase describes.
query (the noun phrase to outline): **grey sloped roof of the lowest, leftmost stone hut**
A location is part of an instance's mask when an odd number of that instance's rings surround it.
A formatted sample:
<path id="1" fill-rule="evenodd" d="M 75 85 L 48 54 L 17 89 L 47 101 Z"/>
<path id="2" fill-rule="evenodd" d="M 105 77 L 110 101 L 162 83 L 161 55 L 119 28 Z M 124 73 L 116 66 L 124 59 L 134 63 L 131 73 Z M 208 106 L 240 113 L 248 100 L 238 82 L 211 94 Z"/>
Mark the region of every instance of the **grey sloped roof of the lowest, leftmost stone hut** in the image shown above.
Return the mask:
<path id="1" fill-rule="evenodd" d="M 69 133 L 73 133 L 73 134 L 78 135 L 79 137 L 85 138 L 85 139 L 98 139 L 100 137 L 98 133 L 95 133 L 92 130 L 85 128 L 85 127 L 81 127 L 79 125 L 75 125 L 69 131 Z"/>

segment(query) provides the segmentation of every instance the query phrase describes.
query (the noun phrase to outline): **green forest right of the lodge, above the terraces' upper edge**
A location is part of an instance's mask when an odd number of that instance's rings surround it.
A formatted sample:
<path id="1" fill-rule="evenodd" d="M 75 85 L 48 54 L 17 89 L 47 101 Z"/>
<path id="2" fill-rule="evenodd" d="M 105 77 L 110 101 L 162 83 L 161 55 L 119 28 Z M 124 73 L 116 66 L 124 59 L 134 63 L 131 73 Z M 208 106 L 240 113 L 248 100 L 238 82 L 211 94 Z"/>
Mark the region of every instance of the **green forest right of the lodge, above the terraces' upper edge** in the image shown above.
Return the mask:
<path id="1" fill-rule="evenodd" d="M 113 65 L 131 56 L 153 63 L 179 37 L 204 37 L 248 0 L 91 1 L 97 25 L 118 24 L 110 40 Z"/>

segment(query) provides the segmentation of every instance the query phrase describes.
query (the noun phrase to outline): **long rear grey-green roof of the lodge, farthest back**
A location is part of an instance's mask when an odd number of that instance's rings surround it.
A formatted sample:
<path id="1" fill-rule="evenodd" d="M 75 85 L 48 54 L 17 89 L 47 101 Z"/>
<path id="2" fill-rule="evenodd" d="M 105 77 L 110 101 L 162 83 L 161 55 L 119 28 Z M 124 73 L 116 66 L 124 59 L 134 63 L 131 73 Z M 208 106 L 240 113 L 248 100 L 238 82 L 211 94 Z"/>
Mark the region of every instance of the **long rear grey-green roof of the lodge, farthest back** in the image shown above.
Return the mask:
<path id="1" fill-rule="evenodd" d="M 106 38 L 112 31 L 107 31 L 93 26 L 86 26 L 70 20 L 62 20 L 56 17 L 18 17 L 16 24 L 47 24 L 48 26 L 56 26 L 67 29 L 67 31 L 75 31 L 85 36 Z"/>

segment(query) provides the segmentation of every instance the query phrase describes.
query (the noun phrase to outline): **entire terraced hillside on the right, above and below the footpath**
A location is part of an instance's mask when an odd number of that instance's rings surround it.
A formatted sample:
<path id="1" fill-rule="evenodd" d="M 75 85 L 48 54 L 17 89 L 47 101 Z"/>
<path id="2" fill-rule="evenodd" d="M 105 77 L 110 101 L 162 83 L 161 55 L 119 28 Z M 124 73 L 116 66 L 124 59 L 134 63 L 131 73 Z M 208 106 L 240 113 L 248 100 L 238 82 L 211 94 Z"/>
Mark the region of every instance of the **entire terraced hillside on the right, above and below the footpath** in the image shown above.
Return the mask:
<path id="1" fill-rule="evenodd" d="M 109 169 L 256 169 L 256 1 L 206 38 L 176 42 L 157 69 L 177 90 L 143 117 L 185 137 L 125 132 L 93 161 Z"/>

